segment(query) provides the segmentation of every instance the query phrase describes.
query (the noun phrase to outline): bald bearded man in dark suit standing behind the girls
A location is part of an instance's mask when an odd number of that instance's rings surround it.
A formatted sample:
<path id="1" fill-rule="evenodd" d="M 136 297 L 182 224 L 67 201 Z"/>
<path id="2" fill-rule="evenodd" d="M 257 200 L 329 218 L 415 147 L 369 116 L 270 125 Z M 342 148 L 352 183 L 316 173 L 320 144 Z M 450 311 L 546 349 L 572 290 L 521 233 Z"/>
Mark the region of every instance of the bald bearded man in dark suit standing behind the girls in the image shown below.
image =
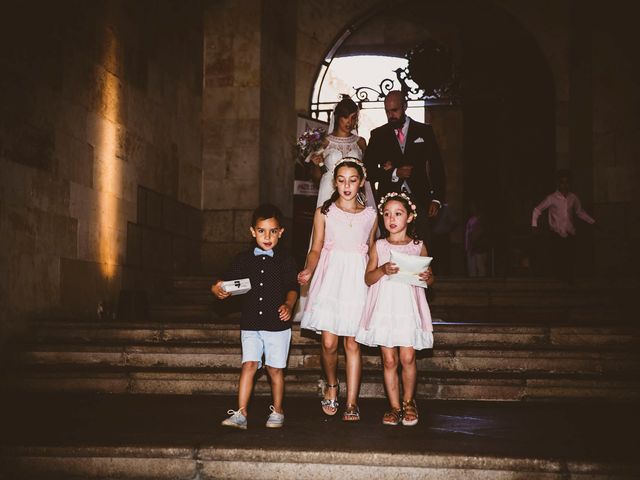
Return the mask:
<path id="1" fill-rule="evenodd" d="M 364 162 L 376 199 L 389 192 L 407 192 L 418 209 L 416 228 L 429 241 L 427 217 L 438 214 L 445 201 L 446 176 L 430 125 L 406 114 L 407 101 L 399 90 L 384 100 L 388 123 L 371 132 Z"/>

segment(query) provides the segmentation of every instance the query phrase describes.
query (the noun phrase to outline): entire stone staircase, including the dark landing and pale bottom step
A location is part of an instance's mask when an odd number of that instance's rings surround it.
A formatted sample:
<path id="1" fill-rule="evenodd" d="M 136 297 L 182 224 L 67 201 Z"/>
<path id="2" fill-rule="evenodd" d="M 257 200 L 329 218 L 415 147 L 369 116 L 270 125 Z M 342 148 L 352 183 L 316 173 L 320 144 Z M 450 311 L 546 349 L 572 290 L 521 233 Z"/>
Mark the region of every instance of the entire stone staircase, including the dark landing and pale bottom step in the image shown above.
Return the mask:
<path id="1" fill-rule="evenodd" d="M 320 418 L 313 398 L 322 387 L 318 337 L 298 325 L 286 388 L 288 405 L 300 411 L 282 433 L 253 426 L 242 435 L 224 431 L 213 412 L 221 415 L 237 392 L 238 304 L 213 301 L 204 277 L 173 279 L 146 321 L 40 321 L 15 345 L 4 383 L 17 404 L 22 396 L 34 404 L 0 446 L 0 478 L 638 478 L 640 465 L 628 448 L 619 459 L 607 457 L 626 448 L 624 441 L 615 439 L 613 453 L 595 458 L 604 447 L 581 446 L 581 431 L 566 433 L 563 423 L 571 430 L 582 421 L 565 420 L 574 405 L 587 409 L 577 419 L 591 422 L 600 412 L 600 430 L 592 432 L 590 423 L 585 431 L 593 445 L 608 445 L 604 439 L 618 428 L 611 425 L 635 411 L 636 286 L 439 279 L 438 287 L 430 301 L 435 348 L 418 355 L 417 397 L 426 418 L 408 432 L 371 416 L 385 408 L 380 355 L 372 348 L 363 349 L 362 425 Z M 253 404 L 266 411 L 264 374 L 255 391 Z M 101 403 L 110 406 L 101 410 Z M 538 413 L 529 418 L 525 410 L 532 408 Z M 171 419 L 172 409 L 184 413 Z M 35 433 L 45 429 L 42 439 L 20 433 L 32 411 L 42 412 L 30 420 Z M 58 421 L 53 412 L 60 411 Z M 121 412 L 135 419 L 131 426 L 117 420 Z M 102 419 L 97 427 L 94 416 Z M 67 428 L 76 437 L 55 440 Z M 559 437 L 550 440 L 554 428 Z M 635 431 L 633 423 L 625 429 Z M 527 440 L 532 434 L 537 440 Z"/>

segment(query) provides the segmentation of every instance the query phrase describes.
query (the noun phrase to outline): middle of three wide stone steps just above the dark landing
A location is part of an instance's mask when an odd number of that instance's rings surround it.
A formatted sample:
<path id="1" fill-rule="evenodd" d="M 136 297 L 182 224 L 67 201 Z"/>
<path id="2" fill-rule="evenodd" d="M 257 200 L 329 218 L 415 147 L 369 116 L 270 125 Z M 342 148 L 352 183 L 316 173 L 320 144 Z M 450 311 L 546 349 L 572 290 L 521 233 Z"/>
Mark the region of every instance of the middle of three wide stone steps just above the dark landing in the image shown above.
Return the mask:
<path id="1" fill-rule="evenodd" d="M 546 372 L 555 373 L 640 373 L 640 357 L 628 350 L 594 349 L 487 349 L 478 347 L 439 347 L 419 352 L 421 372 Z M 100 365 L 111 367 L 149 368 L 240 368 L 240 345 L 33 345 L 21 352 L 20 363 L 27 366 Z M 344 367 L 344 356 L 339 356 Z M 318 345 L 294 345 L 288 368 L 320 369 Z M 363 348 L 363 370 L 380 371 L 378 349 Z"/>

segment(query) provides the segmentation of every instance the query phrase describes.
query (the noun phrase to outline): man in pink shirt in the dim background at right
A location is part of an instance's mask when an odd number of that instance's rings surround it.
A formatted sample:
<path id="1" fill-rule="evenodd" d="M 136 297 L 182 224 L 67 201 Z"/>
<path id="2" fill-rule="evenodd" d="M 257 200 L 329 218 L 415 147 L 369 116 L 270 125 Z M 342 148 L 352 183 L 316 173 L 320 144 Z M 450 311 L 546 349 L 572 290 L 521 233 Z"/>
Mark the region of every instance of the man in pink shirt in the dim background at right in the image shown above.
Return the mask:
<path id="1" fill-rule="evenodd" d="M 534 232 L 539 230 L 538 218 L 549 209 L 549 228 L 551 229 L 551 260 L 554 273 L 558 278 L 573 281 L 575 258 L 574 216 L 592 225 L 596 221 L 582 209 L 578 196 L 570 191 L 571 172 L 558 170 L 558 190 L 548 195 L 533 209 L 531 226 Z"/>

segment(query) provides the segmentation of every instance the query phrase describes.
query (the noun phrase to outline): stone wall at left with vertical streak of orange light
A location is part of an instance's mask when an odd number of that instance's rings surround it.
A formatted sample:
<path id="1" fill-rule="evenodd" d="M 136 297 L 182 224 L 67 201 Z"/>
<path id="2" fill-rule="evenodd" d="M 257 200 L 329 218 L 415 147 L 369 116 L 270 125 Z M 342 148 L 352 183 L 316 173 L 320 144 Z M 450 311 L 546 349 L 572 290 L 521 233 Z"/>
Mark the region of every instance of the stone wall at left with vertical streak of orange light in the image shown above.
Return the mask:
<path id="1" fill-rule="evenodd" d="M 4 336 L 158 278 L 127 264 L 139 186 L 201 207 L 201 4 L 14 3 L 0 59 Z"/>

